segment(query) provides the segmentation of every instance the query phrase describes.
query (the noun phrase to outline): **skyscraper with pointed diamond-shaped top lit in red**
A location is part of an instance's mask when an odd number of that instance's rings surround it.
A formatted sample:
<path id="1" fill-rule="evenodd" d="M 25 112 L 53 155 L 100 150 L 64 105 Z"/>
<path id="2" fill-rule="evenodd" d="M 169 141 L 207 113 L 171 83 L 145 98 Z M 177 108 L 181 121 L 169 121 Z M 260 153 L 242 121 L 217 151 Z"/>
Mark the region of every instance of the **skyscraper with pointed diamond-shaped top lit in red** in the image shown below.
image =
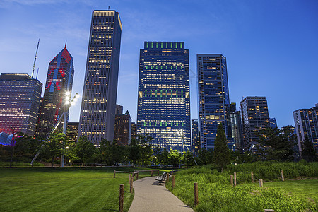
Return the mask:
<path id="1" fill-rule="evenodd" d="M 35 132 L 37 136 L 46 138 L 63 114 L 65 94 L 72 91 L 73 76 L 73 57 L 65 45 L 64 49 L 49 62 L 39 124 Z M 66 115 L 67 121 L 69 114 Z"/>

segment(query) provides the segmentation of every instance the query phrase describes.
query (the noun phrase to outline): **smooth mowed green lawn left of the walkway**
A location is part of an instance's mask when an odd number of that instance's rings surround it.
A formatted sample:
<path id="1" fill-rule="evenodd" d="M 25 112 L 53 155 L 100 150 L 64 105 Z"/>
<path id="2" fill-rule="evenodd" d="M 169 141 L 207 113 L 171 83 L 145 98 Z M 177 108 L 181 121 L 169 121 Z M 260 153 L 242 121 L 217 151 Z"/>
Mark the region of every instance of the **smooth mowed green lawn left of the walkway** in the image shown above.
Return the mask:
<path id="1" fill-rule="evenodd" d="M 120 184 L 128 211 L 134 199 L 129 174 L 117 173 L 114 179 L 114 169 L 0 168 L 0 211 L 118 211 Z"/>

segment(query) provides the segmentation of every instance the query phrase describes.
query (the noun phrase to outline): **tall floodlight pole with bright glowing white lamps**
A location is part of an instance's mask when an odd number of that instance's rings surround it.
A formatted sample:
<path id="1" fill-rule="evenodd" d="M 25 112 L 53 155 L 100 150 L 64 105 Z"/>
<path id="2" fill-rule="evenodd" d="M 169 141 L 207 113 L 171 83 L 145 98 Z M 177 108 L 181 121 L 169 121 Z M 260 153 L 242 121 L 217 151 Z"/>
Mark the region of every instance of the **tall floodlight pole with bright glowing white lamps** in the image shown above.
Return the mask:
<path id="1" fill-rule="evenodd" d="M 73 99 L 71 100 L 71 92 L 66 91 L 64 94 L 64 107 L 63 107 L 63 133 L 66 135 L 66 127 L 67 127 L 67 118 L 68 118 L 68 114 L 69 114 L 69 107 L 71 107 L 71 105 L 75 105 L 76 101 L 79 98 L 79 94 L 76 93 L 76 95 L 73 97 Z M 71 100 L 71 102 L 70 102 Z M 63 143 L 63 153 L 61 155 L 61 167 L 64 167 L 64 143 Z"/>

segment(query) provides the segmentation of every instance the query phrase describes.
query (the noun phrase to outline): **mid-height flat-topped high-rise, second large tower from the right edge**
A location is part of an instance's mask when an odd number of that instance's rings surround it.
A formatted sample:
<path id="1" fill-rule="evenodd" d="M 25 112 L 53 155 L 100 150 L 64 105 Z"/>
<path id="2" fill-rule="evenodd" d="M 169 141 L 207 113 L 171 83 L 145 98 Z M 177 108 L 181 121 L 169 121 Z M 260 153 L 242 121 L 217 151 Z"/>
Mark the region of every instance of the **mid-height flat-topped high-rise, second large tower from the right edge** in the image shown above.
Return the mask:
<path id="1" fill-rule="evenodd" d="M 247 96 L 240 102 L 243 151 L 256 151 L 257 131 L 269 127 L 269 109 L 265 97 Z"/>

